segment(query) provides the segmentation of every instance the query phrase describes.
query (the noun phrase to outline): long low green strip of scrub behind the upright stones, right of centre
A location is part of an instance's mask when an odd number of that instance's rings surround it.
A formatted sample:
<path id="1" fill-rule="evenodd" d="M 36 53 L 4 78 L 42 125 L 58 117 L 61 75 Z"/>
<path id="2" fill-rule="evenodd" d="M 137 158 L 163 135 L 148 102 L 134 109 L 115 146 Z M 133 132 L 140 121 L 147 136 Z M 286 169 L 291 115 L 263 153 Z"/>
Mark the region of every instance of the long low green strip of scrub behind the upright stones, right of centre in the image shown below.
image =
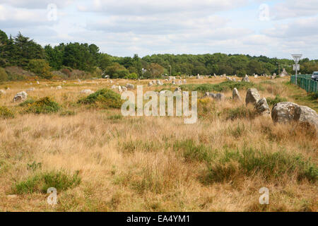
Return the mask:
<path id="1" fill-rule="evenodd" d="M 247 82 L 233 82 L 233 81 L 225 81 L 223 83 L 218 84 L 188 84 L 188 85 L 180 85 L 182 90 L 185 91 L 199 91 L 202 93 L 206 92 L 223 92 L 228 90 L 233 90 L 237 88 L 237 90 L 247 90 L 249 88 L 257 88 L 257 90 L 264 90 L 261 85 L 255 83 L 247 83 Z"/>

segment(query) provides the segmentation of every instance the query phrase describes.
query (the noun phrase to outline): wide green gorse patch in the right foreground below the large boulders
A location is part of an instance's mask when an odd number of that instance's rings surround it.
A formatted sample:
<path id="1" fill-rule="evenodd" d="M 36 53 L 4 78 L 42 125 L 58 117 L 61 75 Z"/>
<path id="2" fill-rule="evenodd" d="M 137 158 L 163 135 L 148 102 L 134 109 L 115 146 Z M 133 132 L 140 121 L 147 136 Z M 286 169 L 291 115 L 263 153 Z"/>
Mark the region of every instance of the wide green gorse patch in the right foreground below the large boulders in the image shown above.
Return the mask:
<path id="1" fill-rule="evenodd" d="M 261 175 L 267 181 L 295 175 L 298 180 L 307 179 L 315 182 L 318 168 L 302 155 L 290 154 L 285 150 L 271 153 L 254 148 L 242 148 L 218 151 L 216 157 L 208 162 L 208 172 L 212 182 L 223 182 L 254 174 Z"/>

